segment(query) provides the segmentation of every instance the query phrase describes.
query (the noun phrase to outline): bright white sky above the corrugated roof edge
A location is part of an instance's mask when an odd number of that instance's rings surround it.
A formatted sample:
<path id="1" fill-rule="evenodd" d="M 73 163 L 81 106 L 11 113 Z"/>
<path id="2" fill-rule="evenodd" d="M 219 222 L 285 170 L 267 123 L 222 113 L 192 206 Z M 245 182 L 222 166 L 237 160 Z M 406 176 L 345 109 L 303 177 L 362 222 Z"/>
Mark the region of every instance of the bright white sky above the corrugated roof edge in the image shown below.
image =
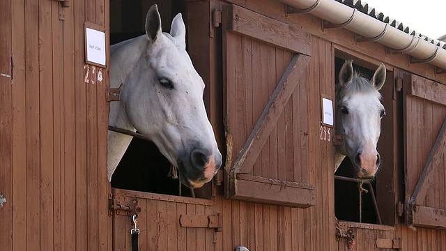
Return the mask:
<path id="1" fill-rule="evenodd" d="M 429 38 L 446 34 L 445 0 L 362 0 L 369 7 Z"/>

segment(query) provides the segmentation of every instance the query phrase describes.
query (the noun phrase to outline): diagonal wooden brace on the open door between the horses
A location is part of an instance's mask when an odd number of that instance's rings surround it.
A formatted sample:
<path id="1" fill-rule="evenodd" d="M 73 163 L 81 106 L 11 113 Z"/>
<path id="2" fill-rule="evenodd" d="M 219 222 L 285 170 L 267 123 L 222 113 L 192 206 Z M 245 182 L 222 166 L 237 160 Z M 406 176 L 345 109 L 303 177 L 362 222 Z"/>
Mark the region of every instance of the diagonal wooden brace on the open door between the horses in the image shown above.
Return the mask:
<path id="1" fill-rule="evenodd" d="M 288 68 L 265 109 L 263 109 L 262 115 L 254 126 L 254 129 L 250 133 L 245 146 L 238 155 L 233 165 L 233 172 L 236 173 L 249 173 L 252 169 L 252 165 L 263 146 L 266 143 L 266 139 L 274 127 L 274 122 L 279 119 L 282 110 L 284 109 L 286 102 L 288 102 L 291 93 L 293 92 L 297 79 L 305 73 L 306 66 L 309 62 L 309 57 L 305 55 L 295 55 L 289 63 Z"/>

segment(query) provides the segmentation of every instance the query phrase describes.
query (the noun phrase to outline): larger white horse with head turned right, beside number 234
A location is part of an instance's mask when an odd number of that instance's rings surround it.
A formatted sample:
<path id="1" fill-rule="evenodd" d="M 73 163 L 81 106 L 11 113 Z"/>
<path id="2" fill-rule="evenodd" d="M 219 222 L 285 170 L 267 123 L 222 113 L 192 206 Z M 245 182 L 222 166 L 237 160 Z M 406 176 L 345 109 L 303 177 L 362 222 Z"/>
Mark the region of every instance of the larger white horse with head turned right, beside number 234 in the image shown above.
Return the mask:
<path id="1" fill-rule="evenodd" d="M 110 48 L 110 87 L 122 84 L 110 105 L 109 126 L 138 131 L 178 168 L 181 183 L 200 188 L 222 165 L 203 102 L 203 79 L 185 48 L 185 24 L 178 13 L 162 33 L 157 5 L 148 10 L 146 34 Z M 132 136 L 108 132 L 109 181 Z"/>

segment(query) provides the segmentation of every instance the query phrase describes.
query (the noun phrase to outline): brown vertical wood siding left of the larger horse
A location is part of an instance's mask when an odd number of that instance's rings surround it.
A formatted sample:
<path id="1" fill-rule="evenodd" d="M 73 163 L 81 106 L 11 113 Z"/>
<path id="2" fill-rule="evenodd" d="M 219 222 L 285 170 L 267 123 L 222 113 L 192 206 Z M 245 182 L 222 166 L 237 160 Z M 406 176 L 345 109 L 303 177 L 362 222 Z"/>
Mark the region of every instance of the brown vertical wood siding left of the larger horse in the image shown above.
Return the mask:
<path id="1" fill-rule="evenodd" d="M 84 22 L 109 3 L 0 4 L 0 250 L 110 250 L 107 70 L 84 82 Z"/>

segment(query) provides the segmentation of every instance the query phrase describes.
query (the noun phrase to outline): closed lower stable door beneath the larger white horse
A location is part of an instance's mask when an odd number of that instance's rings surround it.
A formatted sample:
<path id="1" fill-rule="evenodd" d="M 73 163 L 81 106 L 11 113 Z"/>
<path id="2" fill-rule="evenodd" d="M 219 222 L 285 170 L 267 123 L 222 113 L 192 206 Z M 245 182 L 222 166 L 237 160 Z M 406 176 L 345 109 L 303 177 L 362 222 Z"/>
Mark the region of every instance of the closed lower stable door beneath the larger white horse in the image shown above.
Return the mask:
<path id="1" fill-rule="evenodd" d="M 222 218 L 213 199 L 112 189 L 113 250 L 132 250 L 132 211 L 137 213 L 139 250 L 215 250 Z"/>

